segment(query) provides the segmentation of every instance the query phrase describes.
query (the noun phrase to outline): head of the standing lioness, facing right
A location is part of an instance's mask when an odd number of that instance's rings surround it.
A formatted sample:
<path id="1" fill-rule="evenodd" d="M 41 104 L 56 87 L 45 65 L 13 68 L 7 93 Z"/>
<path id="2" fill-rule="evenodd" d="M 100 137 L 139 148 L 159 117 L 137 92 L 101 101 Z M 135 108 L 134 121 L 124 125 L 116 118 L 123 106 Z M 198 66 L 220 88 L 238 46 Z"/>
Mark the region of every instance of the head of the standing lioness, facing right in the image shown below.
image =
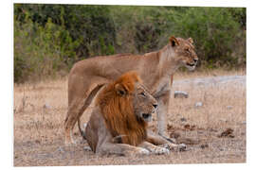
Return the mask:
<path id="1" fill-rule="evenodd" d="M 192 38 L 185 40 L 172 36 L 168 44 L 169 48 L 171 47 L 174 51 L 174 60 L 191 71 L 195 68 L 198 61 L 192 43 Z"/>

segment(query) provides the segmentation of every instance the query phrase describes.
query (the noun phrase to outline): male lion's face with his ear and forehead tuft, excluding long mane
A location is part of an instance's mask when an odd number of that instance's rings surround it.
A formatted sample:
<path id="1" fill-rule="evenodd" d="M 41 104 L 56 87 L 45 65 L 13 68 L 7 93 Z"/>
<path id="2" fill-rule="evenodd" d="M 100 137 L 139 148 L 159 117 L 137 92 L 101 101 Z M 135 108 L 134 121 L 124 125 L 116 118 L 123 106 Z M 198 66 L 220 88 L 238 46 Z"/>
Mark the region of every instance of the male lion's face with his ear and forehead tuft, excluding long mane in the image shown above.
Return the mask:
<path id="1" fill-rule="evenodd" d="M 155 112 L 157 107 L 157 101 L 149 93 L 147 88 L 143 86 L 141 80 L 135 72 L 129 72 L 122 77 L 127 76 L 127 78 L 134 78 L 135 80 L 122 81 L 115 85 L 117 93 L 124 98 L 129 100 L 133 106 L 133 112 L 137 116 L 138 120 L 143 120 L 145 122 L 150 122 L 152 120 L 152 114 Z M 131 83 L 133 82 L 133 84 Z"/>

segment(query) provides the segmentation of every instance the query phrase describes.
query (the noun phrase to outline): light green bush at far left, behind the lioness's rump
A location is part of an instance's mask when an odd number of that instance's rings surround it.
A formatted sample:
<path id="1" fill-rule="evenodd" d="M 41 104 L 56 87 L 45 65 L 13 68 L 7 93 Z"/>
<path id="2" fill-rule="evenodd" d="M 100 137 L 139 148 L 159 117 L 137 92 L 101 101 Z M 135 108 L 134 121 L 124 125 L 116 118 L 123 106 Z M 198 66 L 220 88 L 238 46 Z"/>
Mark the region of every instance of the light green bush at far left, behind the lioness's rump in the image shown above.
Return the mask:
<path id="1" fill-rule="evenodd" d="M 72 42 L 68 31 L 48 19 L 46 26 L 14 21 L 14 81 L 51 76 L 67 70 L 69 58 L 74 58 L 78 42 Z M 64 64 L 65 63 L 65 64 Z"/>

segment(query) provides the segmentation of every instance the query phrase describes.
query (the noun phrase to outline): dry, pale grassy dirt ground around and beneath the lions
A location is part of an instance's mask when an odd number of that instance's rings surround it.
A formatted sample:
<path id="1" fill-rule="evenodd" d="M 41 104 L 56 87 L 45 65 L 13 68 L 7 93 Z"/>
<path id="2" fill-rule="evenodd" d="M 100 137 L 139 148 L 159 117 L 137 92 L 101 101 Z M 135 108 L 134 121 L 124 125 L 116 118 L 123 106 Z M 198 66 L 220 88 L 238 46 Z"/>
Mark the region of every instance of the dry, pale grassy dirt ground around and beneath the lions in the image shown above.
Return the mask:
<path id="1" fill-rule="evenodd" d="M 97 156 L 82 140 L 64 145 L 67 109 L 66 77 L 37 83 L 14 84 L 14 166 L 169 164 L 246 162 L 246 74 L 180 73 L 168 115 L 168 132 L 184 152 L 140 157 Z M 174 91 L 189 93 L 174 98 Z M 84 112 L 82 121 L 89 118 Z M 156 118 L 150 124 L 156 130 Z"/>

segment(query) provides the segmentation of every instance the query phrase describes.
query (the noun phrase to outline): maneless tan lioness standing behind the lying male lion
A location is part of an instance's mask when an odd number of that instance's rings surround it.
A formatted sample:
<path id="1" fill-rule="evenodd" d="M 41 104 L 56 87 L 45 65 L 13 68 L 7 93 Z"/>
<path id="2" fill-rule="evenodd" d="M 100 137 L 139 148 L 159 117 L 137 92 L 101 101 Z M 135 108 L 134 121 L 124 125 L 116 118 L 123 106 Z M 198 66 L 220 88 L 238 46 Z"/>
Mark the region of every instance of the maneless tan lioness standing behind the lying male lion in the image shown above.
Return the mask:
<path id="1" fill-rule="evenodd" d="M 144 85 L 158 101 L 158 134 L 166 137 L 166 114 L 169 111 L 171 93 L 170 78 L 180 66 L 193 70 L 197 60 L 192 38 L 184 40 L 171 37 L 162 49 L 145 55 L 104 56 L 77 62 L 68 76 L 68 110 L 64 121 L 65 144 L 75 144 L 72 138 L 73 127 L 101 87 L 131 70 L 137 71 Z"/>

